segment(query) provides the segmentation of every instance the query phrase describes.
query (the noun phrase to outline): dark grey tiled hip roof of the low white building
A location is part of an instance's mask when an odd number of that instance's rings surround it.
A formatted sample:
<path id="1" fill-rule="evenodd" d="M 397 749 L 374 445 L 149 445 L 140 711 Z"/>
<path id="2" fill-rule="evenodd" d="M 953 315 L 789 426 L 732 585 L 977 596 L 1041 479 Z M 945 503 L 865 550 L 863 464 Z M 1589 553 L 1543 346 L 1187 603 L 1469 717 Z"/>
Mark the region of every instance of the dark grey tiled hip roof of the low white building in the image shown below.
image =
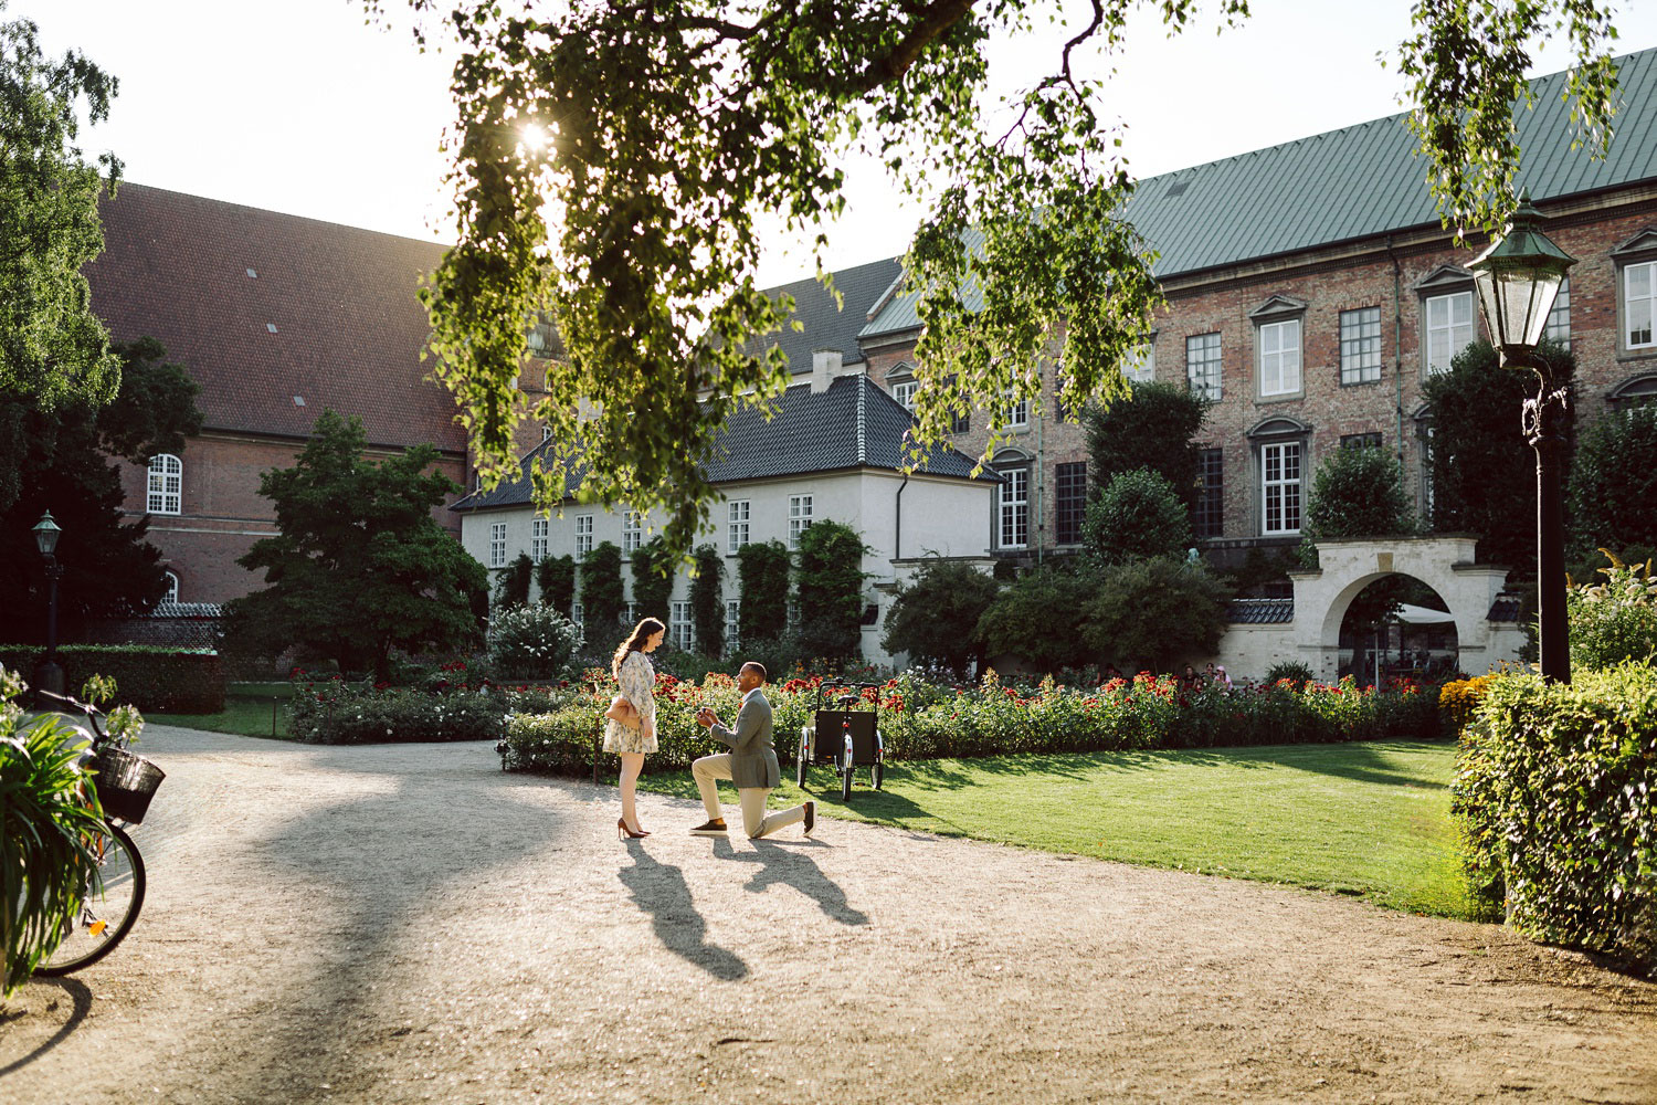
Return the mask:
<path id="1" fill-rule="evenodd" d="M 731 484 L 858 467 L 898 469 L 905 462 L 903 434 L 915 424 L 915 417 L 896 399 L 862 374 L 840 376 L 819 394 L 812 394 L 805 384 L 789 388 L 771 403 L 771 421 L 762 409 L 752 406 L 729 417 L 719 437 L 721 456 L 708 464 L 711 482 Z M 512 482 L 502 482 L 490 492 L 474 492 L 451 509 L 527 504 L 529 470 L 543 447 L 524 457 L 522 470 Z M 974 479 L 973 461 L 949 446 L 930 449 L 916 470 Z M 570 474 L 565 497 L 573 497 L 580 479 L 578 470 Z M 986 469 L 976 479 L 996 482 L 999 477 Z"/>

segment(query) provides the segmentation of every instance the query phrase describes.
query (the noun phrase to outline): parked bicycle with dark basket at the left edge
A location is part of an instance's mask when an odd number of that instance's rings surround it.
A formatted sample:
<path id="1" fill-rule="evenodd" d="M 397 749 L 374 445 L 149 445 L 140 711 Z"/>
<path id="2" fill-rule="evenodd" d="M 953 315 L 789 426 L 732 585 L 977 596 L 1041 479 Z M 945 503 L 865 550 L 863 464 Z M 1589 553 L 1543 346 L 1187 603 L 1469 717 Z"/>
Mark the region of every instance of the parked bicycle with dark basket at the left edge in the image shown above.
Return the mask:
<path id="1" fill-rule="evenodd" d="M 91 724 L 91 744 L 83 752 L 83 764 L 96 772 L 93 785 L 104 812 L 101 830 L 88 842 L 98 856 L 98 866 L 88 876 L 86 901 L 58 948 L 35 967 L 38 976 L 61 977 L 108 956 L 138 923 L 144 908 L 144 856 L 126 827 L 144 820 L 149 800 L 166 774 L 144 757 L 128 752 L 124 739 L 106 734 L 98 724 L 104 712 L 91 702 L 50 691 L 36 694 L 75 707 Z M 86 732 L 80 726 L 75 729 Z"/>

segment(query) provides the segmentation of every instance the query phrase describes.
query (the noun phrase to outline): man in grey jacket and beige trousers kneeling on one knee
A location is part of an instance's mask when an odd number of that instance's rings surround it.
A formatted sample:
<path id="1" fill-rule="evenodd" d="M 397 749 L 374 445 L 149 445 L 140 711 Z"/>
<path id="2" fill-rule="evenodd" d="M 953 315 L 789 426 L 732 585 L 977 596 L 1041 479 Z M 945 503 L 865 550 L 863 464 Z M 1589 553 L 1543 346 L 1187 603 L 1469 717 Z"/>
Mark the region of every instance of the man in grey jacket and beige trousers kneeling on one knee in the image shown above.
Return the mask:
<path id="1" fill-rule="evenodd" d="M 719 808 L 719 779 L 736 784 L 742 799 L 742 828 L 749 838 L 769 837 L 784 825 L 805 822 L 805 835 L 817 828 L 817 803 L 807 802 L 789 810 L 766 813 L 766 795 L 782 782 L 782 769 L 777 765 L 777 750 L 771 747 L 771 702 L 761 692 L 766 684 L 766 666 L 749 661 L 737 673 L 736 689 L 742 692 L 742 707 L 736 714 L 736 732 L 719 724 L 719 716 L 713 709 L 696 711 L 696 721 L 714 737 L 731 746 L 721 755 L 704 755 L 691 764 L 691 777 L 696 789 L 703 792 L 703 805 L 708 808 L 708 823 L 698 825 L 691 832 L 698 837 L 722 837 L 726 833 L 724 812 Z"/>

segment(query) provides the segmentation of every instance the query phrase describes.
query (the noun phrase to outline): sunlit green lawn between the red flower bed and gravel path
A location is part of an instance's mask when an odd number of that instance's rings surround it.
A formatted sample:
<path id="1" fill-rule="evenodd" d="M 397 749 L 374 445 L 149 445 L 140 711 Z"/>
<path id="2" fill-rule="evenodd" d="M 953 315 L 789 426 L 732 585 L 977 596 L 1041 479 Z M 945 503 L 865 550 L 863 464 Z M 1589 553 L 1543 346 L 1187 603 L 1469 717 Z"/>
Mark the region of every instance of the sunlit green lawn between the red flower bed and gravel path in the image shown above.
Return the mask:
<path id="1" fill-rule="evenodd" d="M 1453 742 L 1377 741 L 893 764 L 882 792 L 860 774 L 847 805 L 819 767 L 810 795 L 789 775 L 771 803 L 1466 916 L 1453 777 Z M 696 795 L 689 774 L 640 785 Z"/>

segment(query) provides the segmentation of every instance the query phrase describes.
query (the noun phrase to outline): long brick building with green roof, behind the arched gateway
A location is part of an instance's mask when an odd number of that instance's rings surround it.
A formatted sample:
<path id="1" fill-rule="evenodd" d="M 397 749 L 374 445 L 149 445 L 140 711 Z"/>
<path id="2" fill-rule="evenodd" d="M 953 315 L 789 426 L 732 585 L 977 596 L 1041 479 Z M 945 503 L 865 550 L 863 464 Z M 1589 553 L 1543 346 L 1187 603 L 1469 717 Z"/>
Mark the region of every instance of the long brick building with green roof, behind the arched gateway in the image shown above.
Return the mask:
<path id="1" fill-rule="evenodd" d="M 1519 186 L 1577 258 L 1549 320 L 1577 358 L 1576 417 L 1657 391 L 1657 50 L 1622 58 L 1617 138 L 1604 161 L 1571 151 L 1564 75 L 1519 109 Z M 1218 399 L 1205 429 L 1198 535 L 1233 560 L 1294 545 L 1317 462 L 1344 442 L 1397 454 L 1418 507 L 1432 413 L 1422 381 L 1483 333 L 1476 249 L 1438 225 L 1403 116 L 1145 179 L 1127 215 L 1160 253 L 1167 310 L 1128 369 Z M 1480 244 L 1481 245 L 1481 244 Z M 870 374 L 913 388 L 915 297 L 888 295 L 858 333 Z M 1087 495 L 1080 426 L 1027 411 L 994 467 L 1006 477 L 996 548 L 1034 555 L 1079 540 Z M 1513 413 L 1518 424 L 1519 413 Z M 974 413 L 953 442 L 978 456 Z"/>

